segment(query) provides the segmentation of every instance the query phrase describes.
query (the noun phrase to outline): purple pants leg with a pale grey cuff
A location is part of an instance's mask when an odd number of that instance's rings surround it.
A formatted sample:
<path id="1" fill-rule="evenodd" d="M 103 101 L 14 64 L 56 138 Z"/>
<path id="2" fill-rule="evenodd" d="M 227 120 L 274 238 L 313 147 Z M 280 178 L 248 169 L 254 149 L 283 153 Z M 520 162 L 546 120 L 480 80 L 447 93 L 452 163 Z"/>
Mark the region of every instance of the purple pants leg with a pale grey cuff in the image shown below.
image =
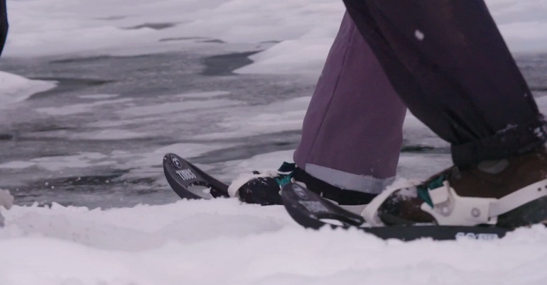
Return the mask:
<path id="1" fill-rule="evenodd" d="M 406 106 L 346 13 L 304 118 L 298 167 L 342 189 L 379 193 L 396 174 Z"/>

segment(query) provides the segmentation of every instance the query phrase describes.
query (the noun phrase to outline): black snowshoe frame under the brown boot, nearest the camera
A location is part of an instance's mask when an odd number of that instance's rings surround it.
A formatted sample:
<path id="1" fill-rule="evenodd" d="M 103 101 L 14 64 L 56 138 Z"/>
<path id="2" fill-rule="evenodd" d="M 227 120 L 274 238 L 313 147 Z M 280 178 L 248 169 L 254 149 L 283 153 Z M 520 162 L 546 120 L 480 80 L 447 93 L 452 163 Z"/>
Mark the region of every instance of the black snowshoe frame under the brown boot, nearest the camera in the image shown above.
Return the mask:
<path id="1" fill-rule="evenodd" d="M 291 183 L 284 186 L 281 197 L 289 215 L 305 228 L 318 229 L 325 225 L 331 228 L 357 228 L 379 238 L 399 240 L 416 240 L 418 238 L 494 240 L 502 238 L 510 231 L 494 226 L 413 225 L 372 228 L 367 226 L 362 216 L 340 208 L 299 184 Z M 327 220 L 335 220 L 337 224 L 329 223 Z"/>

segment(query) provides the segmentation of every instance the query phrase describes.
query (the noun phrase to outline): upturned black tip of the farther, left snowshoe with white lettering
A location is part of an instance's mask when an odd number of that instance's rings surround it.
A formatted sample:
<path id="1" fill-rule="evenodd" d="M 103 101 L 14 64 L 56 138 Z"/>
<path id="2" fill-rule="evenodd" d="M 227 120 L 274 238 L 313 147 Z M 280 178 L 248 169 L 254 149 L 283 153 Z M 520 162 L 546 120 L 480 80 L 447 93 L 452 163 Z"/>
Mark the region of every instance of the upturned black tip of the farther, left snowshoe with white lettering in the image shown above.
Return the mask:
<path id="1" fill-rule="evenodd" d="M 227 184 L 173 153 L 163 157 L 163 172 L 169 186 L 182 199 L 229 197 Z"/>

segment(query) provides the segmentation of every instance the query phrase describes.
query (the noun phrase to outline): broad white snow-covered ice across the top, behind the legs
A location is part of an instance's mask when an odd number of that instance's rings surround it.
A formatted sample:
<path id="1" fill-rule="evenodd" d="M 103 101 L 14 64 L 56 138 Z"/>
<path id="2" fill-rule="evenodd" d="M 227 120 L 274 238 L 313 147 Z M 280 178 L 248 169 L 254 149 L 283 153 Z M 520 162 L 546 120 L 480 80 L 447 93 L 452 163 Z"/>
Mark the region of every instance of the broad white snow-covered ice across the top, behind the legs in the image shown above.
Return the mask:
<path id="1" fill-rule="evenodd" d="M 547 50 L 547 0 L 487 4 L 512 51 Z M 344 10 L 342 1 L 331 0 L 9 1 L 5 55 L 132 55 L 204 39 L 247 48 L 274 41 L 239 72 L 317 74 Z"/>

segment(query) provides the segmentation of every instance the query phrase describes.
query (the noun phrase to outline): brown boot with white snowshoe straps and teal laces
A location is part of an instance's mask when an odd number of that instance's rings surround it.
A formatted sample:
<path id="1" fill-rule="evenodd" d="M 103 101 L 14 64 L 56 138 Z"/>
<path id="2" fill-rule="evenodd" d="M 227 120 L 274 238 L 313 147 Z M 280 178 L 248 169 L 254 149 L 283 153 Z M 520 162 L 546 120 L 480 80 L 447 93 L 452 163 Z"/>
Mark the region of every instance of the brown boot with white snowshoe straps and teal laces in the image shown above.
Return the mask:
<path id="1" fill-rule="evenodd" d="M 547 151 L 451 167 L 418 186 L 385 193 L 363 216 L 374 225 L 498 225 L 547 221 Z M 381 221 L 381 222 L 380 222 Z M 380 223 L 379 223 L 380 222 Z"/>

